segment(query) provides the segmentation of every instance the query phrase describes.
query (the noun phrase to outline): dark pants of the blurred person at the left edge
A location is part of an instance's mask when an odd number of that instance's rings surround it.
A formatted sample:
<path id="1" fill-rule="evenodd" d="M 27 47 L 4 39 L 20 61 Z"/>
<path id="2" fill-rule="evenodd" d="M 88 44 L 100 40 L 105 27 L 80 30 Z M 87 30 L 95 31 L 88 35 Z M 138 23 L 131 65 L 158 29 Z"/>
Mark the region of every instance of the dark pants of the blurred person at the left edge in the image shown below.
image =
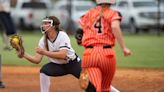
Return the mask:
<path id="1" fill-rule="evenodd" d="M 0 23 L 5 27 L 6 35 L 12 35 L 16 33 L 16 28 L 10 13 L 0 11 Z"/>

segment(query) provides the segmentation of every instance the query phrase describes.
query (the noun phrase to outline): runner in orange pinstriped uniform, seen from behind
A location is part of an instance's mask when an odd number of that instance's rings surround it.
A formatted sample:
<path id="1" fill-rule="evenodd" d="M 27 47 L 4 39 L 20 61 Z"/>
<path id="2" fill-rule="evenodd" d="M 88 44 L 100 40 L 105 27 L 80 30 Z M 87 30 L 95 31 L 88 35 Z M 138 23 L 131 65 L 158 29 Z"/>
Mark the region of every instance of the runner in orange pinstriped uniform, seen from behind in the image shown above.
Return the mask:
<path id="1" fill-rule="evenodd" d="M 114 51 L 117 39 L 125 56 L 131 54 L 126 48 L 120 29 L 121 16 L 110 8 L 114 0 L 97 0 L 97 6 L 80 18 L 83 28 L 82 68 L 89 73 L 89 80 L 96 92 L 110 92 L 110 86 L 116 70 Z"/>

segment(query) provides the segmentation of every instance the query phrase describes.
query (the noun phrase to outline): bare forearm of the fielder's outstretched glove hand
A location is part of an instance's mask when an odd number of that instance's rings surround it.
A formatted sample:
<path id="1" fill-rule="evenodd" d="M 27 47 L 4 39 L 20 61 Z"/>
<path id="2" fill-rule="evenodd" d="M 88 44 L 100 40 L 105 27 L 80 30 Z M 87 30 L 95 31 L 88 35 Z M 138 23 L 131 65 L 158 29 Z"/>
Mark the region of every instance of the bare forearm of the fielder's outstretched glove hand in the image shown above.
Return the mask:
<path id="1" fill-rule="evenodd" d="M 28 53 L 25 53 L 23 57 L 32 63 L 39 64 L 42 60 L 43 55 L 36 53 L 35 56 L 32 56 Z"/>

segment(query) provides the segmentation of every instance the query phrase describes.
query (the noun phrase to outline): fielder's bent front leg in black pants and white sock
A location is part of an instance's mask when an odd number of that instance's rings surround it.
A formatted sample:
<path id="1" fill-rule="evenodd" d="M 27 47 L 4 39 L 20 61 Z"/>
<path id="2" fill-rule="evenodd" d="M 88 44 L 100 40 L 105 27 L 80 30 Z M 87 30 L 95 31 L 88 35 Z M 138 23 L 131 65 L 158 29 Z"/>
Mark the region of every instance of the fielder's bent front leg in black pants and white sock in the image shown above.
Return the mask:
<path id="1" fill-rule="evenodd" d="M 65 75 L 65 71 L 61 68 L 63 65 L 48 63 L 44 65 L 40 70 L 40 90 L 41 92 L 49 92 L 50 88 L 50 76 L 62 76 Z"/>

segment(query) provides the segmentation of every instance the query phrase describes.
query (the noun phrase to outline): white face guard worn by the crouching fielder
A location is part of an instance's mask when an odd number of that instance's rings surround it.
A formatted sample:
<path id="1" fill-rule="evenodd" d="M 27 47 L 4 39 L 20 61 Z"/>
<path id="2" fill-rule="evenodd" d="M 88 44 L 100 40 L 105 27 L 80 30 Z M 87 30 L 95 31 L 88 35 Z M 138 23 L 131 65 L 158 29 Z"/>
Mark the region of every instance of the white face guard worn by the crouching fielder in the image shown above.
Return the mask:
<path id="1" fill-rule="evenodd" d="M 47 29 L 44 27 L 49 26 Z M 40 26 L 41 32 L 44 34 L 53 26 L 53 20 L 51 19 L 44 19 L 42 20 L 42 25 Z"/>

